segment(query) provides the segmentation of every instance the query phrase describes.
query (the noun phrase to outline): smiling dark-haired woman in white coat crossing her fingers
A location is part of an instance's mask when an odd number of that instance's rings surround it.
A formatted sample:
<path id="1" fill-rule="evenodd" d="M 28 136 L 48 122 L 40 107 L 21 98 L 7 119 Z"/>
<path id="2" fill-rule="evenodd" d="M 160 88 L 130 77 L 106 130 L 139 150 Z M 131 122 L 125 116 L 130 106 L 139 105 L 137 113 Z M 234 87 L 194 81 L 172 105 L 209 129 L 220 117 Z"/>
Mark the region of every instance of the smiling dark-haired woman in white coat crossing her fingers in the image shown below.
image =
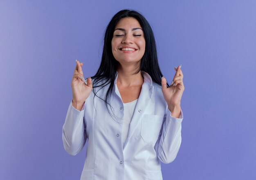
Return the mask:
<path id="1" fill-rule="evenodd" d="M 181 65 L 169 86 L 149 23 L 124 9 L 106 28 L 95 76 L 85 80 L 82 66 L 76 60 L 62 134 L 70 155 L 88 143 L 81 180 L 162 180 L 160 162 L 172 162 L 181 144 Z"/>

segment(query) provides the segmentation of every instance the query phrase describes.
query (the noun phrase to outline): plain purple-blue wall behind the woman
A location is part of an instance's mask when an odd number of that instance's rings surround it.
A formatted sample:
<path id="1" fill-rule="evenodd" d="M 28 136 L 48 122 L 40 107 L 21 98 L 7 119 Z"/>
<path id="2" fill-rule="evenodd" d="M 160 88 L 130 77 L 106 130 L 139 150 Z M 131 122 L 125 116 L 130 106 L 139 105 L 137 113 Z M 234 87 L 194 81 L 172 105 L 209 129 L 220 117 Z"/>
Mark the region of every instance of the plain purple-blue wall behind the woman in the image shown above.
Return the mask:
<path id="1" fill-rule="evenodd" d="M 151 24 L 168 82 L 182 64 L 182 144 L 164 180 L 255 180 L 255 0 L 0 1 L 0 179 L 79 180 L 86 148 L 62 142 L 75 59 L 96 73 L 124 8 Z"/>

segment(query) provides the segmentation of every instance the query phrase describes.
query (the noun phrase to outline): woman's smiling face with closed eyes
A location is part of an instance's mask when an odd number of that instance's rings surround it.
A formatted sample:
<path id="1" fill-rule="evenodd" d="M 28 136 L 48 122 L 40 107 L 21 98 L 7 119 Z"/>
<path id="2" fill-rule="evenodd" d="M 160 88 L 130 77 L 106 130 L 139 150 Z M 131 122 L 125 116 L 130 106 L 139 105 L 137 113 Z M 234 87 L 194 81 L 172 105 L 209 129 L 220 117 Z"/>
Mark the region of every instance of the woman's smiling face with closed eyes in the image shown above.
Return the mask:
<path id="1" fill-rule="evenodd" d="M 111 44 L 113 56 L 120 64 L 140 63 L 146 42 L 138 20 L 130 17 L 119 20 Z"/>

